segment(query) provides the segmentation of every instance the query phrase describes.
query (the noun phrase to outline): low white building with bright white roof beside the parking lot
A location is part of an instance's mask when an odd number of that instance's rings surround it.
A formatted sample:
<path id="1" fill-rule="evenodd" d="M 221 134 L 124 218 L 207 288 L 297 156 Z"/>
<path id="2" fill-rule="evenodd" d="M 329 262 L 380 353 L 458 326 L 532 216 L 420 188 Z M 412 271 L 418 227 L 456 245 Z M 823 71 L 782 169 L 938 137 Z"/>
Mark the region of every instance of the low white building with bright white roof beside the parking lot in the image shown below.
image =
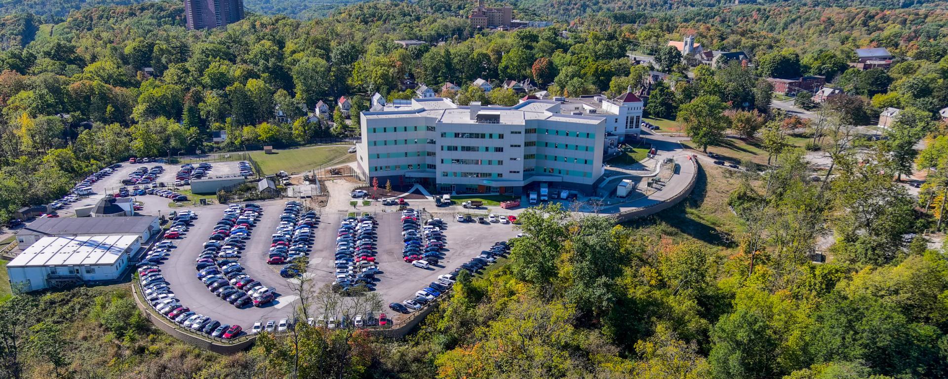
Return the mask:
<path id="1" fill-rule="evenodd" d="M 118 280 L 139 248 L 137 235 L 45 237 L 7 263 L 9 283 L 29 292 Z"/>

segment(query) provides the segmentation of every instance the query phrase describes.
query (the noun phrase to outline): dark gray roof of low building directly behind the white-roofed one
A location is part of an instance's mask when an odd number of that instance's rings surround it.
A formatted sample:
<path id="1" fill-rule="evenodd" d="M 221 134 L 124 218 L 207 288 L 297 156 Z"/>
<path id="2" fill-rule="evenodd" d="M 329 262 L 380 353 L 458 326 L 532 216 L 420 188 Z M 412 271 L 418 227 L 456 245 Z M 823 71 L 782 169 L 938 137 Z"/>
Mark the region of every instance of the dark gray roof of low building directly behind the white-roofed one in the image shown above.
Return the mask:
<path id="1" fill-rule="evenodd" d="M 43 218 L 29 223 L 16 234 L 23 236 L 141 234 L 148 230 L 148 227 L 157 219 L 155 216 Z"/>

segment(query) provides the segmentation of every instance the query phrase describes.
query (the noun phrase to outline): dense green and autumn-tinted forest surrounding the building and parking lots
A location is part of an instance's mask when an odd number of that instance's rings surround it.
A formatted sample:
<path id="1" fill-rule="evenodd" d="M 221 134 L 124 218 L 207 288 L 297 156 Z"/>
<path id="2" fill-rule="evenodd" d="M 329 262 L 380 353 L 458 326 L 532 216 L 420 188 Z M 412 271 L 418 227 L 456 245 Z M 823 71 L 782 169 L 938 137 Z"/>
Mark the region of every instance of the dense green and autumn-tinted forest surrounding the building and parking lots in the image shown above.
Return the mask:
<path id="1" fill-rule="evenodd" d="M 520 14 L 549 13 L 522 3 Z M 513 241 L 509 260 L 460 277 L 400 341 L 301 326 L 222 357 L 150 327 L 121 286 L 0 299 L 0 377 L 944 378 L 948 262 L 942 246 L 915 236 L 944 229 L 948 193 L 948 128 L 937 114 L 948 106 L 948 12 L 928 5 L 585 9 L 595 13 L 566 30 L 491 33 L 456 17 L 469 4 L 440 0 L 364 2 L 309 21 L 251 15 L 199 31 L 169 1 L 80 9 L 55 24 L 8 15 L 2 220 L 130 155 L 356 135 L 349 125 L 372 94 L 413 95 L 399 87 L 406 77 L 457 83 L 461 91 L 440 95 L 462 104 L 512 105 L 513 91 L 470 82 L 617 95 L 659 70 L 669 80 L 649 88 L 648 116 L 677 119 L 700 149 L 739 135 L 768 162 L 744 164 L 746 173 L 702 169 L 686 206 L 634 224 L 528 210 L 528 237 Z M 686 34 L 754 64 L 690 68 L 665 46 Z M 432 44 L 401 48 L 399 39 Z M 864 46 L 889 48 L 895 63 L 849 68 Z M 654 54 L 655 65 L 633 65 L 630 50 Z M 845 91 L 819 106 L 826 122 L 770 107 L 762 78 L 803 74 Z M 335 109 L 343 95 L 349 119 Z M 310 117 L 319 100 L 331 115 Z M 886 107 L 902 116 L 884 138 L 853 134 Z M 227 142 L 206 142 L 219 130 Z M 815 151 L 828 169 L 811 166 Z M 917 198 L 894 180 L 916 167 L 932 169 Z M 816 252 L 828 262 L 811 262 Z"/>

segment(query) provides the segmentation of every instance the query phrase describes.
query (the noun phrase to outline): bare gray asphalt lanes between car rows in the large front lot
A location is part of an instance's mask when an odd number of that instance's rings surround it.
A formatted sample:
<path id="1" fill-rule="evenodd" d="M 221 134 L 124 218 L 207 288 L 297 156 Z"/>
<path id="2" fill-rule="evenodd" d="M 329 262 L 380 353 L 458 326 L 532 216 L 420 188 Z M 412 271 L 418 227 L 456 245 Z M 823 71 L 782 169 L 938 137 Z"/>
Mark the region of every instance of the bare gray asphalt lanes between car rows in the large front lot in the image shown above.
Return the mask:
<path id="1" fill-rule="evenodd" d="M 175 248 L 171 257 L 161 265 L 161 271 L 169 281 L 175 296 L 182 304 L 191 307 L 191 311 L 204 316 L 210 316 L 226 324 L 238 324 L 246 329 L 254 321 L 279 320 L 290 317 L 293 307 L 299 304 L 299 297 L 294 293 L 293 285 L 288 279 L 280 276 L 283 265 L 267 264 L 267 250 L 271 243 L 271 234 L 280 223 L 280 214 L 285 201 L 274 200 L 257 202 L 263 208 L 261 219 L 254 226 L 250 238 L 246 240 L 239 262 L 245 268 L 245 273 L 254 280 L 259 280 L 264 286 L 275 289 L 276 300 L 263 307 L 257 308 L 246 305 L 235 308 L 228 302 L 217 298 L 196 277 L 194 262 L 202 251 L 202 244 L 208 241 L 210 232 L 220 219 L 227 206 L 209 206 L 197 208 L 198 219 L 194 220 L 188 233 L 183 239 L 173 240 Z M 392 208 L 393 210 L 393 208 Z M 320 214 L 317 228 L 314 230 L 315 244 L 310 252 L 310 261 L 307 269 L 308 278 L 314 280 L 316 288 L 329 284 L 335 280 L 336 235 L 337 228 L 342 220 L 348 216 L 347 212 L 331 212 Z M 402 259 L 401 219 L 397 211 L 374 214 L 378 221 L 376 229 L 378 254 L 376 263 L 382 271 L 376 276 L 374 291 L 385 304 L 401 302 L 414 298 L 414 293 L 436 280 L 439 275 L 450 273 L 461 263 L 476 257 L 483 249 L 498 241 L 505 241 L 517 235 L 514 226 L 501 224 L 458 223 L 454 221 L 453 213 L 434 214 L 434 217 L 443 218 L 447 222 L 447 249 L 444 259 L 438 265 L 429 269 L 412 266 Z M 429 215 L 428 215 L 429 216 Z M 389 318 L 396 320 L 403 315 L 391 312 L 388 307 L 378 310 L 386 313 Z"/>

